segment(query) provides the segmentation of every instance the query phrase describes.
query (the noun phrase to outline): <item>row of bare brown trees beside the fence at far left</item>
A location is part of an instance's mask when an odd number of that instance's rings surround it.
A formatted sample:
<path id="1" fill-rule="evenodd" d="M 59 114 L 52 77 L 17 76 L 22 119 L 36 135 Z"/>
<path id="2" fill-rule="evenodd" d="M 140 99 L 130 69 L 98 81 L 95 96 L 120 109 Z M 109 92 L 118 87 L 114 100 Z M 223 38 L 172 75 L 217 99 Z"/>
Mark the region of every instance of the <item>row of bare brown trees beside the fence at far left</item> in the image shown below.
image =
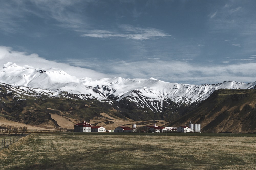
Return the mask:
<path id="1" fill-rule="evenodd" d="M 1 135 L 9 135 L 9 134 L 21 134 L 26 133 L 27 127 L 26 126 L 13 126 L 13 125 L 0 125 L 0 134 Z"/>

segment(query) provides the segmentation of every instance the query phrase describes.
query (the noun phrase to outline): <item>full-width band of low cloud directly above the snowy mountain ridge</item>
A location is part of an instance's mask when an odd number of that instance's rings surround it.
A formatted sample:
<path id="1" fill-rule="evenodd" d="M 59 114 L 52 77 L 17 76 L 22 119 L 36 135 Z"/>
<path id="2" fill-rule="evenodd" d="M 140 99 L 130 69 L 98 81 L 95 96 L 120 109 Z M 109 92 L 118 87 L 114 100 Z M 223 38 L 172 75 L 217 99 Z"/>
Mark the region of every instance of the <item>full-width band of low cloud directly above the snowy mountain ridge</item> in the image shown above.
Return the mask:
<path id="1" fill-rule="evenodd" d="M 204 65 L 199 67 L 189 61 L 163 61 L 159 58 L 148 58 L 147 60 L 136 62 L 69 59 L 67 62 L 74 65 L 70 66 L 65 63 L 45 60 L 37 54 L 13 51 L 10 47 L 0 46 L 0 65 L 2 66 L 7 62 L 14 62 L 20 66 L 34 67 L 35 69 L 53 67 L 60 68 L 76 77 L 90 78 L 120 76 L 123 78 L 148 79 L 149 77 L 154 77 L 168 82 L 191 84 L 219 83 L 228 80 L 240 82 L 255 81 L 255 60 L 241 59 L 240 61 L 250 61 L 250 63 L 228 64 L 229 62 L 224 61 L 221 65 Z M 81 67 L 93 68 L 98 72 Z M 99 72 L 105 72 L 106 74 Z"/>

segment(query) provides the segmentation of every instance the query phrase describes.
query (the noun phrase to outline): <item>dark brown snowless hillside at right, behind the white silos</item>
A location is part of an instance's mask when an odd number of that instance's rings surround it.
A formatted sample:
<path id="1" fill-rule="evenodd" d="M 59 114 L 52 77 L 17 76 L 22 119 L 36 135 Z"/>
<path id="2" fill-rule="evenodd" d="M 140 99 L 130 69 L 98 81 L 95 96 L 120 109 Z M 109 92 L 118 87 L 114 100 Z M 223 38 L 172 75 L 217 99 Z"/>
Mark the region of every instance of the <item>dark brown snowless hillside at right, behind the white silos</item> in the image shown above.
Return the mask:
<path id="1" fill-rule="evenodd" d="M 256 132 L 256 90 L 216 90 L 198 108 L 171 123 L 201 124 L 202 132 Z"/>

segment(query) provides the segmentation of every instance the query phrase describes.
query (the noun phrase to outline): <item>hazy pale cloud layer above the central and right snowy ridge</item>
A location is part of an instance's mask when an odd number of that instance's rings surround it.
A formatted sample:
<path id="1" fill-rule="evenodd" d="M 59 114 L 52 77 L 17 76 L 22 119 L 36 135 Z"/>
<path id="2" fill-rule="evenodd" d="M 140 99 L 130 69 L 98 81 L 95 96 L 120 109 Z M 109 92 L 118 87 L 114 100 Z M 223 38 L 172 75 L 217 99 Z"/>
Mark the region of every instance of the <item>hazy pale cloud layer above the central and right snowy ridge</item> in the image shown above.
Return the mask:
<path id="1" fill-rule="evenodd" d="M 68 62 L 72 63 L 72 60 Z M 74 62 L 74 61 L 73 61 Z M 77 61 L 78 62 L 78 61 Z M 74 64 L 74 63 L 72 63 Z M 93 66 L 101 72 L 108 72 L 111 77 L 145 78 L 154 77 L 159 80 L 177 83 L 204 84 L 220 83 L 233 80 L 240 82 L 255 81 L 256 63 L 198 66 L 189 61 L 143 60 L 136 62 L 109 61 L 104 64 L 94 60 Z M 88 66 L 90 62 L 79 60 L 79 66 Z"/>

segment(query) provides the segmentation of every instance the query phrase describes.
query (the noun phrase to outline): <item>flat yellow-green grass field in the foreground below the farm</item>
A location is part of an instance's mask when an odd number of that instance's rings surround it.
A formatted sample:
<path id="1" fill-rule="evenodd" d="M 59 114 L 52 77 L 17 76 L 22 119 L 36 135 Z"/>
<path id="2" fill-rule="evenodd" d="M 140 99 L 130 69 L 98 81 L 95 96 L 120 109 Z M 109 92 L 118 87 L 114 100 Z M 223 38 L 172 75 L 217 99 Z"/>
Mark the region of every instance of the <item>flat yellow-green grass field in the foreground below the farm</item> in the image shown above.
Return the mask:
<path id="1" fill-rule="evenodd" d="M 29 135 L 0 169 L 256 169 L 255 134 L 104 134 Z"/>

